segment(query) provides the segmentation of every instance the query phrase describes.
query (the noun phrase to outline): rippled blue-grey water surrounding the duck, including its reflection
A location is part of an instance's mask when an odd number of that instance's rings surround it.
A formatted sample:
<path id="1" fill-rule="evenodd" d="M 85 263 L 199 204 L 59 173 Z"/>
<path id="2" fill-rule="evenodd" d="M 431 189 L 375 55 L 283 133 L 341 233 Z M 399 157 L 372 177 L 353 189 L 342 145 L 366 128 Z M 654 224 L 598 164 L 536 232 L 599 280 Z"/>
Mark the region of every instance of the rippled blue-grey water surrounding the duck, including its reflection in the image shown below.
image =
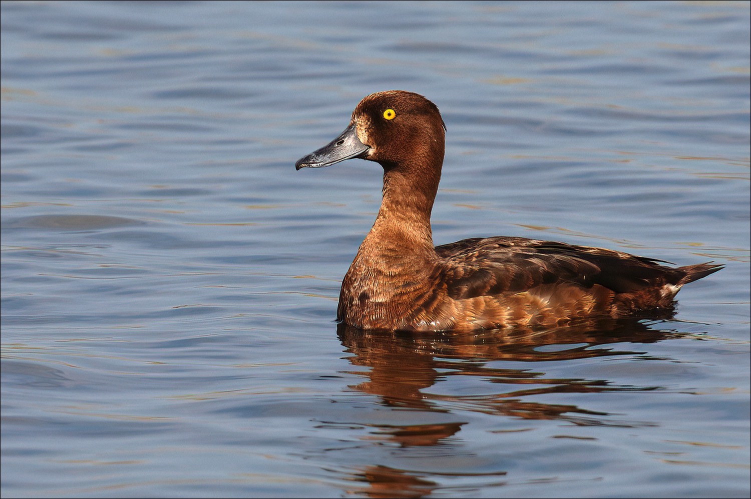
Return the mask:
<path id="1" fill-rule="evenodd" d="M 3 2 L 3 497 L 748 497 L 748 2 Z M 436 244 L 726 268 L 673 317 L 339 327 L 371 92 Z"/>

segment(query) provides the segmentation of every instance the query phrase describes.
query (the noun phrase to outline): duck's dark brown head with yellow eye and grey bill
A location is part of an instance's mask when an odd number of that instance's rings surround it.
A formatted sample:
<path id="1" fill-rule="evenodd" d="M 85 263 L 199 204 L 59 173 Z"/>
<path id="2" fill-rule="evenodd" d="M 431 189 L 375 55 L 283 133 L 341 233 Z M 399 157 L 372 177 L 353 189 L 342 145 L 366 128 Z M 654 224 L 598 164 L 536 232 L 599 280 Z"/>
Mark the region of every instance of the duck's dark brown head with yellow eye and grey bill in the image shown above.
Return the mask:
<path id="1" fill-rule="evenodd" d="M 445 125 L 436 104 L 413 92 L 378 92 L 357 104 L 339 137 L 297 160 L 295 167 L 328 167 L 351 158 L 377 161 L 387 170 L 420 158 L 437 159 L 440 167 L 444 142 Z"/>

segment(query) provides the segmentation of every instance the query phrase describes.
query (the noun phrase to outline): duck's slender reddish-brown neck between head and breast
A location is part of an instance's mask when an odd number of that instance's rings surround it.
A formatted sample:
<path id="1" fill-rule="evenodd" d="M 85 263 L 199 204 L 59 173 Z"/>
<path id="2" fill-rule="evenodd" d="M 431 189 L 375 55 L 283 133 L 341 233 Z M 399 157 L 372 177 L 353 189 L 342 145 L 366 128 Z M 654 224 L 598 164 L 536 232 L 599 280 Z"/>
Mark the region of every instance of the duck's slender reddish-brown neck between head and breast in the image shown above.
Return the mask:
<path id="1" fill-rule="evenodd" d="M 423 156 L 423 159 L 425 157 Z M 384 164 L 383 200 L 363 246 L 403 255 L 434 254 L 430 212 L 441 178 L 443 155 L 433 164 Z"/>

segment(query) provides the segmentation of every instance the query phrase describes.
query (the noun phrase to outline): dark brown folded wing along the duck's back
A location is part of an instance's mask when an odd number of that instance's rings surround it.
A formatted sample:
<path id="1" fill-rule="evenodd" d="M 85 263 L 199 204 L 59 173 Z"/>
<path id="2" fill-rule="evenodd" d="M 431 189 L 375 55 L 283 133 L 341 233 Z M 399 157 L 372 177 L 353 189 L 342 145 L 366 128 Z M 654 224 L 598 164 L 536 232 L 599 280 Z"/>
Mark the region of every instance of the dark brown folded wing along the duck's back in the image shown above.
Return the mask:
<path id="1" fill-rule="evenodd" d="M 662 266 L 660 260 L 517 237 L 464 239 L 438 246 L 436 252 L 446 262 L 442 281 L 454 299 L 518 293 L 557 283 L 600 284 L 615 293 L 632 293 L 678 284 L 686 277 L 685 271 Z"/>

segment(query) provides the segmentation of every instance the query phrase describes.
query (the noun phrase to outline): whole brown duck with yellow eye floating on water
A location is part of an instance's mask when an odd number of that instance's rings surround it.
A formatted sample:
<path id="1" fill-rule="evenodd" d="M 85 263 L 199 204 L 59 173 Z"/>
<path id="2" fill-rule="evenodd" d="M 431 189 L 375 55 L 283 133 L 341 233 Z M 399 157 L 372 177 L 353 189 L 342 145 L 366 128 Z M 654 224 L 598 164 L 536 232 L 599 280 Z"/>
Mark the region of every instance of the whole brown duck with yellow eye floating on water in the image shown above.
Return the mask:
<path id="1" fill-rule="evenodd" d="M 462 332 L 625 317 L 670 308 L 684 284 L 722 269 L 516 236 L 434 246 L 445 132 L 424 96 L 377 92 L 357 104 L 342 134 L 296 162 L 297 170 L 351 158 L 383 167 L 382 203 L 342 281 L 339 323 Z"/>

